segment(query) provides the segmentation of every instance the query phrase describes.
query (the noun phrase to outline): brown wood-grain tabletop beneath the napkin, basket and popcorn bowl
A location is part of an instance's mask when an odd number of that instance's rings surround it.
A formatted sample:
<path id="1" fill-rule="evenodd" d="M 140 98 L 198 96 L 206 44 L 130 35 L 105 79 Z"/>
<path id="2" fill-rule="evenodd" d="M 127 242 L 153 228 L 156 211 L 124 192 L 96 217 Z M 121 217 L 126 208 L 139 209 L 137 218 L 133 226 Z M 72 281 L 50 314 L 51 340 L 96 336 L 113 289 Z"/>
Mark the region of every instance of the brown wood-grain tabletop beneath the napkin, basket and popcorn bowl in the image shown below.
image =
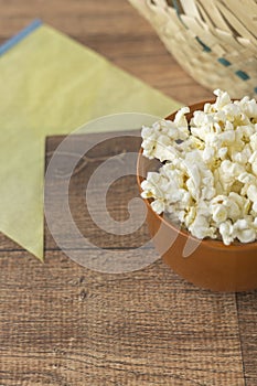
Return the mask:
<path id="1" fill-rule="evenodd" d="M 0 0 L 0 42 L 40 17 L 178 100 L 212 96 L 122 0 Z M 61 140 L 47 140 L 46 161 Z M 120 147 L 107 143 L 101 152 Z M 88 172 L 99 163 L 97 154 Z M 71 187 L 82 232 L 89 229 L 109 249 L 128 245 L 85 226 L 85 175 L 77 173 Z M 128 179 L 116 186 L 119 197 L 135 194 L 135 180 Z M 118 219 L 126 218 L 124 201 L 118 212 L 111 199 L 109 205 Z M 143 226 L 129 245 L 147 237 Z M 257 385 L 256 291 L 200 290 L 161 260 L 131 274 L 95 272 L 67 258 L 47 229 L 45 256 L 42 265 L 0 236 L 1 386 Z"/>

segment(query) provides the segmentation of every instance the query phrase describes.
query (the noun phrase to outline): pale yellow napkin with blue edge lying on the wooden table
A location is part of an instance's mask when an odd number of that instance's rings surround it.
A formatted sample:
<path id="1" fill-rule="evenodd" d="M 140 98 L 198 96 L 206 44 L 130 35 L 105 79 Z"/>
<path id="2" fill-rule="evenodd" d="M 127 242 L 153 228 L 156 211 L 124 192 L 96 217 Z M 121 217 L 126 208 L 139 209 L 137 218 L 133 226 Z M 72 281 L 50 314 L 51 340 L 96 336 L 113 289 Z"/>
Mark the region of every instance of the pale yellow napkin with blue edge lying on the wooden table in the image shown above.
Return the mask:
<path id="1" fill-rule="evenodd" d="M 0 232 L 43 259 L 45 137 L 113 112 L 165 116 L 179 104 L 40 22 L 9 43 L 0 47 Z"/>

